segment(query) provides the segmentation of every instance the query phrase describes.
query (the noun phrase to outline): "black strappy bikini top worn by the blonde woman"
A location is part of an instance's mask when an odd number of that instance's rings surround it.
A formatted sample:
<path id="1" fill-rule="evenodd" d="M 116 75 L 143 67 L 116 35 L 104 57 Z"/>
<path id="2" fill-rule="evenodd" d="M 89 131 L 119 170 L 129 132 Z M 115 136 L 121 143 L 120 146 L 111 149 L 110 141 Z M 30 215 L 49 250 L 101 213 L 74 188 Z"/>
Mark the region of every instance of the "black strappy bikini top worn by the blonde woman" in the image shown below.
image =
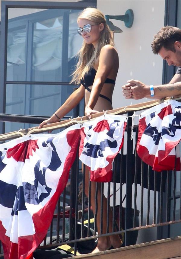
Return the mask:
<path id="1" fill-rule="evenodd" d="M 85 75 L 84 77 L 81 79 L 81 84 L 89 91 L 91 92 L 91 89 L 88 88 L 89 86 L 93 85 L 94 83 L 94 78 L 96 76 L 97 71 L 94 69 L 94 67 L 92 67 Z M 106 78 L 105 84 L 113 84 L 115 85 L 116 81 L 110 78 Z M 110 98 L 108 98 L 107 96 L 103 95 L 103 94 L 99 94 L 100 97 L 106 99 L 107 101 L 109 101 L 111 104 L 111 100 Z"/>

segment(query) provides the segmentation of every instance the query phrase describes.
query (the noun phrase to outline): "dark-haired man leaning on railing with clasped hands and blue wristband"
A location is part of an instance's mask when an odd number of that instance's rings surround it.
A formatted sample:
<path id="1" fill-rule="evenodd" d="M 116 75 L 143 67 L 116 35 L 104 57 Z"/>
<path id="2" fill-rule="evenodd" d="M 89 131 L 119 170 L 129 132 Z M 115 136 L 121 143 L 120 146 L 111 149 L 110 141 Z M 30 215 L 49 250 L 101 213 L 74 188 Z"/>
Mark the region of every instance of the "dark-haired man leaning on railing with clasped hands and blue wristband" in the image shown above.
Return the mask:
<path id="1" fill-rule="evenodd" d="M 123 96 L 126 99 L 181 96 L 181 30 L 172 26 L 162 27 L 154 36 L 151 47 L 153 53 L 159 54 L 169 66 L 179 66 L 179 68 L 170 83 L 166 85 L 145 85 L 138 80 L 128 80 L 128 84 L 122 86 Z"/>

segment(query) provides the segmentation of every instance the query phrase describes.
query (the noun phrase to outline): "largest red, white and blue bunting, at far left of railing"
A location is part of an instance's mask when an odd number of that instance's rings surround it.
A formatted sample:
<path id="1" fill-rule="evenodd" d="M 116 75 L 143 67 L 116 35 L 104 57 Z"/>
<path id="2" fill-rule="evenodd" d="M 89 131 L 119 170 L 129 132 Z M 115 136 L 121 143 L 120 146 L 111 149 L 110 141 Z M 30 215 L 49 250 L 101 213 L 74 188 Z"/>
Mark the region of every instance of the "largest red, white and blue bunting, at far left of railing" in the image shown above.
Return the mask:
<path id="1" fill-rule="evenodd" d="M 0 145 L 0 240 L 5 259 L 33 258 L 75 160 L 80 125 Z"/>

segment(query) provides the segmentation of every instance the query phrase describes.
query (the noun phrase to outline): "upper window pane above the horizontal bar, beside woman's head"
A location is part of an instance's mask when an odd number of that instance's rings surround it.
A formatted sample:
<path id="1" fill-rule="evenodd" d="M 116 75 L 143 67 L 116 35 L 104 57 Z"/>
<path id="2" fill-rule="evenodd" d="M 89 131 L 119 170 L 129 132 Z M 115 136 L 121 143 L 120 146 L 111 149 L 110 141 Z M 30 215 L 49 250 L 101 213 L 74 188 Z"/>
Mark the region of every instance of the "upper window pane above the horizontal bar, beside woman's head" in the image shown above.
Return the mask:
<path id="1" fill-rule="evenodd" d="M 82 44 L 80 11 L 9 8 L 7 80 L 69 82 Z"/>

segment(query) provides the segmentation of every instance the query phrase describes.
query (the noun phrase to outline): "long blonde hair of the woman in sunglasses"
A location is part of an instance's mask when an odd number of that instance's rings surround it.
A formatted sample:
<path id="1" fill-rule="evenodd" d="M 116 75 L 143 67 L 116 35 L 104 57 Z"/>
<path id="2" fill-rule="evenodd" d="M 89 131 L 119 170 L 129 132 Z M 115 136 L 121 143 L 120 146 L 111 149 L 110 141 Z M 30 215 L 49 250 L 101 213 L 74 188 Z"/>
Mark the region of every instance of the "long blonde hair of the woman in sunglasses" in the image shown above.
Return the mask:
<path id="1" fill-rule="evenodd" d="M 71 81 L 75 82 L 76 84 L 80 84 L 81 78 L 94 65 L 94 62 L 100 55 L 100 50 L 102 49 L 102 47 L 107 44 L 114 46 L 114 40 L 111 35 L 110 28 L 106 24 L 106 19 L 104 18 L 104 15 L 101 11 L 96 8 L 88 7 L 80 13 L 80 15 L 78 16 L 78 20 L 79 19 L 87 19 L 95 22 L 96 24 L 103 23 L 104 28 L 100 32 L 99 42 L 95 50 L 92 44 L 87 44 L 84 40 L 81 49 L 77 53 L 79 60 L 76 65 L 75 71 L 72 73 L 73 77 Z"/>

